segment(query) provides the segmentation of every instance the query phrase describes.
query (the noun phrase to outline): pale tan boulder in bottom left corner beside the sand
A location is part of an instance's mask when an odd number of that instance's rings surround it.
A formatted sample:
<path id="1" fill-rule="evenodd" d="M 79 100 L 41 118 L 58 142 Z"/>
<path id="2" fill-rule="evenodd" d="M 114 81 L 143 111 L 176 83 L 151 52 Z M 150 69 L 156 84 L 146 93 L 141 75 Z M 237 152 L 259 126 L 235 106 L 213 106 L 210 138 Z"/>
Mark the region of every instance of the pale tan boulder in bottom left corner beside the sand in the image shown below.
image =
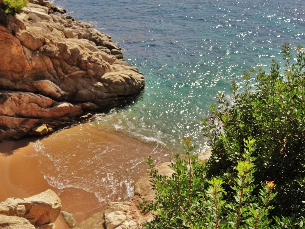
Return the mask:
<path id="1" fill-rule="evenodd" d="M 48 229 L 53 228 L 54 222 L 57 219 L 61 209 L 61 201 L 56 193 L 52 190 L 44 191 L 38 195 L 29 198 L 8 198 L 0 203 L 0 225 L 19 224 L 34 225 L 36 228 Z M 4 217 L 9 216 L 9 217 Z M 11 216 L 18 216 L 10 218 Z M 18 219 L 22 217 L 22 219 Z M 14 223 L 9 223 L 13 220 Z M 24 221 L 26 220 L 26 221 Z M 7 227 L 7 228 L 35 228 L 35 227 Z M 6 227 L 4 227 L 6 228 Z"/>

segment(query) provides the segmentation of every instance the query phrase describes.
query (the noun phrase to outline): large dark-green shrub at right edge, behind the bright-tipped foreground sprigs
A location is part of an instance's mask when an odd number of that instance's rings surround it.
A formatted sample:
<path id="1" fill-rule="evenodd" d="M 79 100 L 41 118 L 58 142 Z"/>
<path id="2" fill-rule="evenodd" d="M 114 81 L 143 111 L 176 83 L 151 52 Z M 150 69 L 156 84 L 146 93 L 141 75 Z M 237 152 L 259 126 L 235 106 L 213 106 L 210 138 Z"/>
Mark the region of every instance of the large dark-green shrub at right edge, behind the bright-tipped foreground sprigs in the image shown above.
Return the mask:
<path id="1" fill-rule="evenodd" d="M 296 62 L 292 63 L 289 45 L 283 45 L 286 64 L 282 73 L 274 60 L 270 74 L 261 67 L 258 72 L 250 70 L 256 74 L 255 91 L 249 85 L 249 74 L 244 74 L 245 92 L 238 94 L 233 82 L 235 105 L 230 107 L 219 94 L 220 106 L 211 106 L 212 125 L 203 120 L 213 147 L 209 176 L 232 171 L 242 153 L 243 139 L 255 139 L 254 177 L 257 184 L 276 182 L 273 213 L 277 216 L 305 215 L 305 55 L 301 46 L 296 49 Z"/>

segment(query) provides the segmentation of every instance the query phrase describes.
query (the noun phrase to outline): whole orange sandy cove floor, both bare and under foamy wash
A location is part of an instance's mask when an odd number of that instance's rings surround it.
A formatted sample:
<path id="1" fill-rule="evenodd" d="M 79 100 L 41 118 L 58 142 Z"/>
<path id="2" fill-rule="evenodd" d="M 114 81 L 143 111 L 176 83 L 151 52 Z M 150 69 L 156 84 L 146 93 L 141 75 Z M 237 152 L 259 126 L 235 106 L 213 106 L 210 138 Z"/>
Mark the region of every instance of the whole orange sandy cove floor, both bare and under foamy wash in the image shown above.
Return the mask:
<path id="1" fill-rule="evenodd" d="M 158 164 L 168 161 L 170 152 L 94 123 L 32 142 L 0 143 L 0 202 L 52 189 L 62 210 L 80 223 L 109 202 L 130 200 L 148 156 Z"/>

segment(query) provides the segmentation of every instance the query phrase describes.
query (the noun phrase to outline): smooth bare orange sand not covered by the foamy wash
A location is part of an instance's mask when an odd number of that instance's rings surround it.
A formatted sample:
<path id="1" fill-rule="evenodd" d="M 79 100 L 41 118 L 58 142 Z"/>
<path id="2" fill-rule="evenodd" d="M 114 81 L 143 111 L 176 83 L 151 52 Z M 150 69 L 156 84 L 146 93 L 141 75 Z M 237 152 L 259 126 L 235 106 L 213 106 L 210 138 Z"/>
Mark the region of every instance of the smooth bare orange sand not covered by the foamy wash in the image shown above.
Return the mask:
<path id="1" fill-rule="evenodd" d="M 10 197 L 27 198 L 51 189 L 61 199 L 61 210 L 73 213 L 79 223 L 105 208 L 106 203 L 100 203 L 92 193 L 77 188 L 60 190 L 49 185 L 38 170 L 39 163 L 32 156 L 36 153 L 32 143 L 24 146 L 26 141 L 0 143 L 0 202 Z M 56 228 L 68 227 L 58 217 Z"/>

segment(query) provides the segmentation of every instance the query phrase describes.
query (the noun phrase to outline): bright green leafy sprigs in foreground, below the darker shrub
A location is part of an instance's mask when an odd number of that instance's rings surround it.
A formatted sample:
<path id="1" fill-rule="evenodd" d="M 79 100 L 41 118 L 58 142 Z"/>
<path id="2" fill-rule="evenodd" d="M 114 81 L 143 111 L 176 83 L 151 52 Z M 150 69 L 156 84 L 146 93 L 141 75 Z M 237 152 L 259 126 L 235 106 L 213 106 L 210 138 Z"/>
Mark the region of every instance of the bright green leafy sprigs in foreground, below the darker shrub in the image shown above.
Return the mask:
<path id="1" fill-rule="evenodd" d="M 144 202 L 143 210 L 153 214 L 154 219 L 146 228 L 302 228 L 303 221 L 292 218 L 270 219 L 274 206 L 270 202 L 276 197 L 274 181 L 255 184 L 256 158 L 254 140 L 244 140 L 244 153 L 237 161 L 232 173 L 208 177 L 207 163 L 198 155 L 190 155 L 192 146 L 185 140 L 186 154 L 174 155 L 170 168 L 172 176 L 158 174 L 152 159 L 147 164 L 151 170 L 154 202 Z M 233 191 L 226 191 L 230 186 Z M 258 194 L 254 190 L 258 189 Z"/>

